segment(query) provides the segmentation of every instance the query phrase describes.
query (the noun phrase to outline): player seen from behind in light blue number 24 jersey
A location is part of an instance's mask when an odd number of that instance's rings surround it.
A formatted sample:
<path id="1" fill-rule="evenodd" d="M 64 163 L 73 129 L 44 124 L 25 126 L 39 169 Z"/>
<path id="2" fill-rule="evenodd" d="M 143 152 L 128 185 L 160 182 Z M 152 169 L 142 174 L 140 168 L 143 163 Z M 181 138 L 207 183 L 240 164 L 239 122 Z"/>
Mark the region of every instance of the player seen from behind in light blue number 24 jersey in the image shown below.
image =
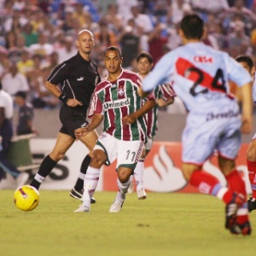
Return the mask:
<path id="1" fill-rule="evenodd" d="M 241 132 L 252 131 L 251 76 L 227 53 L 203 44 L 204 22 L 186 15 L 179 35 L 183 46 L 161 58 L 143 80 L 141 95 L 170 80 L 189 115 L 183 130 L 183 176 L 202 193 L 225 203 L 225 228 L 232 234 L 251 234 L 245 183 L 236 171 Z M 242 113 L 229 93 L 228 80 L 241 86 Z M 218 152 L 218 165 L 228 187 L 202 170 L 203 163 Z"/>

